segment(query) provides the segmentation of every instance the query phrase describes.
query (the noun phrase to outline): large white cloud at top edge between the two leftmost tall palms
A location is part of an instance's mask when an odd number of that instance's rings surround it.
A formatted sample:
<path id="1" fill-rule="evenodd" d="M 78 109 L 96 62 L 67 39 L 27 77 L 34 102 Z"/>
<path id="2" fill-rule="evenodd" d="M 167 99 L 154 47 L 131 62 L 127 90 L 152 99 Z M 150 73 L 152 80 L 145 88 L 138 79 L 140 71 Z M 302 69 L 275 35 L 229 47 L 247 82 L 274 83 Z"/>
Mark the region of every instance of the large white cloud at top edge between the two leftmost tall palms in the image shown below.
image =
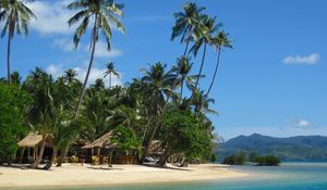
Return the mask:
<path id="1" fill-rule="evenodd" d="M 68 21 L 73 12 L 66 9 L 71 0 L 64 1 L 33 1 L 27 5 L 37 16 L 31 22 L 32 29 L 43 35 L 69 34 L 73 29 L 69 28 Z"/>

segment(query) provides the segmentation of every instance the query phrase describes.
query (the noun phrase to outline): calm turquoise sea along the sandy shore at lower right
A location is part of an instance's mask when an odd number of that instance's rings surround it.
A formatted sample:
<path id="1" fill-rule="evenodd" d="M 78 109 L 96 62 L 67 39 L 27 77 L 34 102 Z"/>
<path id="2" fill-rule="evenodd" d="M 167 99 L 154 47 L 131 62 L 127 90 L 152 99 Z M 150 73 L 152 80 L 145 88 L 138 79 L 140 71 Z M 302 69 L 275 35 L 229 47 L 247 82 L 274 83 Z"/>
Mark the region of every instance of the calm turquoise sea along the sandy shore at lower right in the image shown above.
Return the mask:
<path id="1" fill-rule="evenodd" d="M 327 190 L 327 163 L 283 163 L 281 166 L 232 166 L 251 174 L 242 179 L 205 182 L 137 185 L 61 190 Z M 135 174 L 137 175 L 137 174 Z M 59 190 L 59 189 L 51 189 Z"/>

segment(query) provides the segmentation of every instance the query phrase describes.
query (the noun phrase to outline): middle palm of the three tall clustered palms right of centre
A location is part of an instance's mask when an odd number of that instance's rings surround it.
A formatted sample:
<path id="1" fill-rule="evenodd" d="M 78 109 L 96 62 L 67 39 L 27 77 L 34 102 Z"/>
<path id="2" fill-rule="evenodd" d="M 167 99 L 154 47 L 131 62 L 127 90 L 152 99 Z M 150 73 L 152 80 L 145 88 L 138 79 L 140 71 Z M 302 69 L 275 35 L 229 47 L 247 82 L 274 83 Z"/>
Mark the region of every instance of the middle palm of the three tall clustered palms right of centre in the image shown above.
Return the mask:
<path id="1" fill-rule="evenodd" d="M 216 17 L 209 17 L 208 15 L 204 15 L 202 17 L 202 23 L 197 25 L 197 27 L 195 28 L 195 35 L 194 35 L 195 42 L 191 48 L 191 51 L 193 52 L 194 56 L 197 55 L 197 51 L 204 45 L 202 62 L 197 74 L 198 76 L 202 75 L 202 71 L 206 58 L 207 45 L 211 45 L 213 34 L 216 33 L 220 26 L 221 24 L 218 25 L 216 24 Z M 197 88 L 198 81 L 199 81 L 199 77 L 196 79 L 195 88 Z"/>

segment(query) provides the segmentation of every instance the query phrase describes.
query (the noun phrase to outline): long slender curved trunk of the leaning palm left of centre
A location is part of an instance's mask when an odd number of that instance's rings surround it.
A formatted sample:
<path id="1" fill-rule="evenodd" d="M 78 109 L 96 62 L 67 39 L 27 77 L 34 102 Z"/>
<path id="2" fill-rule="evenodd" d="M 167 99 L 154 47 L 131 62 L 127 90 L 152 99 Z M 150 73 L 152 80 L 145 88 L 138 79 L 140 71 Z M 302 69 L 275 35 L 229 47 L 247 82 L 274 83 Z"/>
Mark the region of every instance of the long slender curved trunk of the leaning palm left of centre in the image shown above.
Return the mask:
<path id="1" fill-rule="evenodd" d="M 96 33 L 97 33 L 96 22 L 97 22 L 97 15 L 95 16 L 95 24 L 94 24 L 94 29 L 93 29 L 93 45 L 92 45 L 90 59 L 89 59 L 89 63 L 88 63 L 86 77 L 85 77 L 85 80 L 84 80 L 84 84 L 83 84 L 82 92 L 81 92 L 81 96 L 78 98 L 78 103 L 77 103 L 77 106 L 76 106 L 76 110 L 75 110 L 74 118 L 77 117 L 77 113 L 78 113 L 80 106 L 81 106 L 82 101 L 83 101 L 83 97 L 84 97 L 84 93 L 85 93 L 85 88 L 86 88 L 87 80 L 88 80 L 89 73 L 90 73 L 90 68 L 92 68 L 92 65 L 93 65 L 94 52 L 95 52 L 95 48 L 96 48 Z"/>

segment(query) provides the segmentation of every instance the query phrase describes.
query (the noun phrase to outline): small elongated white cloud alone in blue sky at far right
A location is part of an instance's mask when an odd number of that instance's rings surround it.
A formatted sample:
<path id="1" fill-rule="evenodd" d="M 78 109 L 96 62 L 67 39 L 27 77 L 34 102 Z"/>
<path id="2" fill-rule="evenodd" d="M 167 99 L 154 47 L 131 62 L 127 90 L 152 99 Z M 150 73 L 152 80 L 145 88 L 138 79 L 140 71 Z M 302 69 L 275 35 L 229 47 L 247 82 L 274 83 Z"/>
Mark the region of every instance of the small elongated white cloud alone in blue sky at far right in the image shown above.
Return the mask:
<path id="1" fill-rule="evenodd" d="M 311 53 L 307 56 L 287 56 L 282 60 L 282 62 L 287 65 L 296 65 L 296 64 L 304 64 L 304 65 L 314 65 L 317 64 L 320 60 L 319 53 Z"/>

